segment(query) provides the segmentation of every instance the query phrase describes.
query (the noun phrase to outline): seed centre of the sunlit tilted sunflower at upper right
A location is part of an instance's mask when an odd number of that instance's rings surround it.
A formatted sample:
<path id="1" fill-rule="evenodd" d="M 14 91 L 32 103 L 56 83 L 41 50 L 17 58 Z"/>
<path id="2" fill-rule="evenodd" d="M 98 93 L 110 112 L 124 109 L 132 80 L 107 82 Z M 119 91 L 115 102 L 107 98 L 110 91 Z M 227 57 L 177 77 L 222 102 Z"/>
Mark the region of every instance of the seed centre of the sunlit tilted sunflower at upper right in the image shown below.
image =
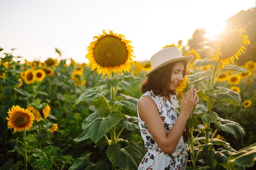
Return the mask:
<path id="1" fill-rule="evenodd" d="M 238 32 L 232 32 L 220 46 L 221 60 L 233 57 L 243 46 L 243 37 Z"/>

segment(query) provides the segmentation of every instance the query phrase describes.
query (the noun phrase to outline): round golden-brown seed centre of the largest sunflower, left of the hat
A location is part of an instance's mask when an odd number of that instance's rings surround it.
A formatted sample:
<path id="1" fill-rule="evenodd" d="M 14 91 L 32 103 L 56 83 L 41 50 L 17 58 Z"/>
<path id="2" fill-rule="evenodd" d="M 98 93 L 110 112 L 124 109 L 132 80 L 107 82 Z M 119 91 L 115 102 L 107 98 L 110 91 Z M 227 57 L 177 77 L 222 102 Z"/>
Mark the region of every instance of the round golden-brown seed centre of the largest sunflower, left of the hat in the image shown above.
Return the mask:
<path id="1" fill-rule="evenodd" d="M 108 35 L 98 40 L 94 47 L 94 57 L 99 65 L 114 67 L 126 62 L 128 50 L 121 39 Z"/>

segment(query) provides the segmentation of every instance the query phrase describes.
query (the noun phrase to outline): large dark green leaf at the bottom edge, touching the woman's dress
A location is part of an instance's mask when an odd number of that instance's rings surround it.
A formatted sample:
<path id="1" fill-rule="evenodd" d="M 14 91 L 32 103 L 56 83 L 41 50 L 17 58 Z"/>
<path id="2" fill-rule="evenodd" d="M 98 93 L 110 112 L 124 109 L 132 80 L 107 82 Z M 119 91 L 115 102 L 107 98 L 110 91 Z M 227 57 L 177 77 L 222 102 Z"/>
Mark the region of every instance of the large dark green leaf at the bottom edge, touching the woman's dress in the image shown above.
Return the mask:
<path id="1" fill-rule="evenodd" d="M 108 146 L 107 156 L 112 164 L 126 170 L 138 168 L 141 159 L 146 153 L 144 144 L 129 138 L 129 145 L 121 148 L 119 144 Z"/>

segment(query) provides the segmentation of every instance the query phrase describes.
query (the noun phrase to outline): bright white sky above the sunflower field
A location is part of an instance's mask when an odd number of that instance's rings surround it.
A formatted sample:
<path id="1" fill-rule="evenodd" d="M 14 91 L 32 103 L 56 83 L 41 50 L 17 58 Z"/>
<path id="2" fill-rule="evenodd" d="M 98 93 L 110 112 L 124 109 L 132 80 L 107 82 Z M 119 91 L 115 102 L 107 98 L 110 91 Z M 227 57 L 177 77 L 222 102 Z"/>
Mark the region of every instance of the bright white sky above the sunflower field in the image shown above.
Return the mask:
<path id="1" fill-rule="evenodd" d="M 256 0 L 0 0 L 0 57 L 88 63 L 93 37 L 111 30 L 132 41 L 134 61 L 150 60 L 166 45 L 186 45 L 197 28 L 216 36 L 225 20 L 255 6 Z"/>

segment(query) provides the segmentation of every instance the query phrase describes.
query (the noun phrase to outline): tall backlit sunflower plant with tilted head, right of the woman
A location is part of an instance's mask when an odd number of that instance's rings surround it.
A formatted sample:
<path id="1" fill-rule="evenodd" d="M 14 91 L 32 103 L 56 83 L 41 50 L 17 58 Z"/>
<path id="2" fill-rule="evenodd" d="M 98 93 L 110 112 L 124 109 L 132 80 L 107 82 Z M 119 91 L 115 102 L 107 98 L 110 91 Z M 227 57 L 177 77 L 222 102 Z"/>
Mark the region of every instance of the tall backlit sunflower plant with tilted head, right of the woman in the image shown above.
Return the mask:
<path id="1" fill-rule="evenodd" d="M 241 98 L 237 92 L 218 86 L 216 83 L 223 72 L 245 73 L 243 68 L 227 63 L 233 62 L 234 58 L 238 59 L 239 54 L 245 50 L 243 45 L 247 44 L 250 44 L 250 42 L 243 28 L 227 33 L 218 43 L 202 44 L 211 49 L 210 56 L 196 60 L 195 66 L 209 67 L 209 69 L 188 76 L 191 84 L 200 83 L 202 85 L 202 89 L 198 90 L 198 96 L 203 103 L 198 105 L 199 110 L 196 111 L 193 118 L 189 118 L 186 124 L 186 127 L 191 132 L 188 135 L 189 153 L 191 155 L 191 161 L 187 167 L 189 170 L 240 170 L 244 169 L 243 166 L 248 166 L 248 163 L 244 165 L 242 163 L 235 164 L 234 162 L 236 161 L 229 163 L 230 158 L 234 160 L 234 157 L 236 157 L 234 156 L 236 155 L 236 150 L 228 142 L 216 138 L 216 134 L 220 131 L 232 134 L 236 138 L 241 138 L 245 135 L 242 126 L 237 122 L 222 119 L 218 113 L 212 111 L 216 102 L 240 105 Z M 252 165 L 252 163 L 249 165 Z"/>

